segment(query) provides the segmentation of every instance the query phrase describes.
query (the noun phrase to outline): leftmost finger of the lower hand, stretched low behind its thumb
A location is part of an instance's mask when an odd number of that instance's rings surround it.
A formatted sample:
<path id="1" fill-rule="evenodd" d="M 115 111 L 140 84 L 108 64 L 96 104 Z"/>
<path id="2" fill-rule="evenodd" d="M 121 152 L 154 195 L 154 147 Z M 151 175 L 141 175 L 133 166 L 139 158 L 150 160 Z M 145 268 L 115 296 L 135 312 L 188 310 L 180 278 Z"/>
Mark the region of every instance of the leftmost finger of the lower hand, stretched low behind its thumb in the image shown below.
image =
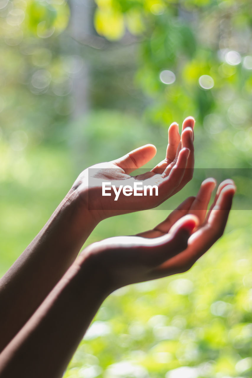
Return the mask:
<path id="1" fill-rule="evenodd" d="M 140 234 L 137 234 L 137 236 L 151 239 L 167 234 L 171 226 L 173 226 L 177 220 L 187 214 L 194 199 L 195 197 L 188 197 L 186 200 L 180 203 L 180 205 L 173 212 L 171 212 L 171 214 L 169 214 L 163 222 L 159 223 L 159 225 L 154 227 L 152 230 L 141 232 Z"/>

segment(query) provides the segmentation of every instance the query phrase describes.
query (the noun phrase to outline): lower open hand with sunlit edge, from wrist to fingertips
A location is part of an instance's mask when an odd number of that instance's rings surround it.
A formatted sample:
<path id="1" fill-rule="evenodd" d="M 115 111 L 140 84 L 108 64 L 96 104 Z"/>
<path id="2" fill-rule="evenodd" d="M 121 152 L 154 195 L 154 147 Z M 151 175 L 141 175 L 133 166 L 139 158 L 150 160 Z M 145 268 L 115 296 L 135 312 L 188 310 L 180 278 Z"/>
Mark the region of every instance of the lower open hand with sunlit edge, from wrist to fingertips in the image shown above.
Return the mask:
<path id="1" fill-rule="evenodd" d="M 235 185 L 223 181 L 207 213 L 215 185 L 213 178 L 203 181 L 196 197 L 187 198 L 154 229 L 94 243 L 82 258 L 95 264 L 110 292 L 187 271 L 221 237 L 227 223 Z"/>

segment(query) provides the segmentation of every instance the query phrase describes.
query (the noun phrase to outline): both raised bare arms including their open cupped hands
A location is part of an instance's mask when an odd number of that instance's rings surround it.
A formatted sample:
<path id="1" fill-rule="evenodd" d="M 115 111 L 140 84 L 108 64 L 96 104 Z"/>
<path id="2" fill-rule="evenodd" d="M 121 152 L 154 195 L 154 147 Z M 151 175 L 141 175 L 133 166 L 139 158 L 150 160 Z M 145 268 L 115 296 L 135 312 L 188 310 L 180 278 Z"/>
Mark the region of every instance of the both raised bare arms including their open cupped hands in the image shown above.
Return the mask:
<path id="1" fill-rule="evenodd" d="M 177 124 L 169 128 L 166 156 L 141 177 L 134 169 L 146 164 L 156 148 L 146 145 L 122 158 L 84 170 L 37 237 L 0 280 L 0 376 L 26 378 L 62 376 L 79 341 L 103 300 L 115 289 L 188 270 L 221 236 L 231 208 L 232 180 L 218 189 L 212 209 L 207 204 L 215 180 L 202 183 L 164 222 L 135 236 L 115 237 L 90 245 L 75 260 L 93 228 L 106 217 L 157 206 L 192 177 L 193 118 L 180 138 Z M 101 196 L 100 183 L 154 180 L 159 196 Z M 90 206 L 90 201 L 91 205 Z M 95 203 L 92 203 L 95 201 Z"/>

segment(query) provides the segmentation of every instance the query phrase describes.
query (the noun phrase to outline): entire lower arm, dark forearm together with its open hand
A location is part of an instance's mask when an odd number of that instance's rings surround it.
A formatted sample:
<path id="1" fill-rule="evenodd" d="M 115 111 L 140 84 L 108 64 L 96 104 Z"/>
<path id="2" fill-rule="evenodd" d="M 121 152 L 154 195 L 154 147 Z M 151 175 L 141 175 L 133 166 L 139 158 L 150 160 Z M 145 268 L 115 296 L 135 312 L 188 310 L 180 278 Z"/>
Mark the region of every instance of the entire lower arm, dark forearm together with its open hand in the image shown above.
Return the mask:
<path id="1" fill-rule="evenodd" d="M 14 378 L 20 371 L 26 378 L 61 377 L 109 293 L 188 270 L 221 236 L 227 222 L 235 187 L 231 180 L 224 181 L 205 217 L 214 186 L 213 180 L 205 181 L 196 198 L 185 200 L 153 230 L 106 239 L 84 249 L 1 353 L 1 377 Z"/>

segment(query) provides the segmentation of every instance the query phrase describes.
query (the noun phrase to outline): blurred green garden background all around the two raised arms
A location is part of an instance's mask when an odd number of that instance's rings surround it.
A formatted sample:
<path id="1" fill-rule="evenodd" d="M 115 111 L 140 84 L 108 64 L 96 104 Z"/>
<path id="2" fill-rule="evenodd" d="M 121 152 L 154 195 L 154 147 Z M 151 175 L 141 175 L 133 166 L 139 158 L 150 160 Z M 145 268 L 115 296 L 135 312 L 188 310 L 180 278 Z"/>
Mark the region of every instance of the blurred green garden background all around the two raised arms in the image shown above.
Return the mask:
<path id="1" fill-rule="evenodd" d="M 251 168 L 251 41 L 250 0 L 0 0 L 0 273 L 81 170 L 145 143 L 154 166 L 172 121 L 196 118 L 196 167 Z M 110 218 L 87 243 L 167 214 Z M 188 273 L 113 293 L 64 378 L 252 377 L 251 224 L 236 206 Z"/>

